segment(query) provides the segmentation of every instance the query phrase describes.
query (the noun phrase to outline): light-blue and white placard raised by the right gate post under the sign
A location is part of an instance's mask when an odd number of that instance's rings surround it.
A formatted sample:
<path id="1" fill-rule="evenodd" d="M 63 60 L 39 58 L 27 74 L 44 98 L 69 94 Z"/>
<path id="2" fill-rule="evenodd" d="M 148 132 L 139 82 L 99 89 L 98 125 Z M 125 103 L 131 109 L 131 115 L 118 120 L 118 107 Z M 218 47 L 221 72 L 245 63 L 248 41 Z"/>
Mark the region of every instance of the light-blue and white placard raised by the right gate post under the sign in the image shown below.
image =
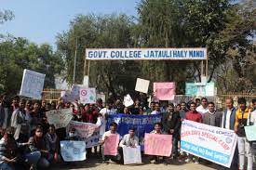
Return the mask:
<path id="1" fill-rule="evenodd" d="M 186 96 L 188 97 L 213 97 L 214 95 L 214 83 L 186 83 Z"/>

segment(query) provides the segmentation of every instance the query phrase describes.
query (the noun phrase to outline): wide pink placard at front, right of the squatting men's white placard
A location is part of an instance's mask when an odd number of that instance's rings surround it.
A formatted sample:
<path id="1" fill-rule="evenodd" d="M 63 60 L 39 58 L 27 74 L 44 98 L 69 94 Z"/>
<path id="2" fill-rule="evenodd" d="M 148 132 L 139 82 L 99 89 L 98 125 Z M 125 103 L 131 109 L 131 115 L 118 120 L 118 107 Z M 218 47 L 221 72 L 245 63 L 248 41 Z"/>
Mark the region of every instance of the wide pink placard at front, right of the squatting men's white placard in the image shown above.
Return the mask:
<path id="1" fill-rule="evenodd" d="M 144 153 L 148 155 L 170 156 L 172 136 L 145 134 Z"/>

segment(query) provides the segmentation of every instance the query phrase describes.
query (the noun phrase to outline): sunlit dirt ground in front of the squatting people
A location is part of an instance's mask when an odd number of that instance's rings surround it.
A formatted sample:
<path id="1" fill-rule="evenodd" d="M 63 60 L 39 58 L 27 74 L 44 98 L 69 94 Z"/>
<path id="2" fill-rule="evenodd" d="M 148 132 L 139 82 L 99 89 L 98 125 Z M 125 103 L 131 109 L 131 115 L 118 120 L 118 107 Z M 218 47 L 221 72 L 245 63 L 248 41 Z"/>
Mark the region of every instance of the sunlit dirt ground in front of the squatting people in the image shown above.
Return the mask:
<path id="1" fill-rule="evenodd" d="M 109 162 L 108 164 L 101 163 L 101 158 L 92 157 L 88 158 L 88 160 L 84 162 L 76 162 L 76 163 L 61 163 L 56 164 L 51 167 L 51 170 L 74 170 L 74 169 L 89 169 L 89 170 L 214 170 L 221 169 L 221 167 L 217 164 L 195 164 L 195 163 L 174 163 L 171 162 L 169 164 L 159 163 L 154 164 L 150 163 L 147 157 L 142 158 L 141 164 L 133 164 L 133 165 L 124 165 L 117 164 L 113 162 Z"/>

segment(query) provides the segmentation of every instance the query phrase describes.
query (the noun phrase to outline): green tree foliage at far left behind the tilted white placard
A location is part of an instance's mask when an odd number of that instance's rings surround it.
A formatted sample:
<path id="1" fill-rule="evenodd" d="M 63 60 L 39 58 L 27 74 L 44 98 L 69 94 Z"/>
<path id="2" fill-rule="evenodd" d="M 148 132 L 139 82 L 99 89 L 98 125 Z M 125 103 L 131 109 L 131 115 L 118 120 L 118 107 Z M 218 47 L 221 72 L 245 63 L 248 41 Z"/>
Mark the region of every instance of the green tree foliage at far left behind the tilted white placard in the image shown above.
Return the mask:
<path id="1" fill-rule="evenodd" d="M 24 69 L 45 73 L 46 88 L 55 87 L 55 75 L 61 73 L 61 56 L 49 45 L 37 46 L 24 38 L 9 37 L 0 43 L 0 92 L 16 95 Z"/>

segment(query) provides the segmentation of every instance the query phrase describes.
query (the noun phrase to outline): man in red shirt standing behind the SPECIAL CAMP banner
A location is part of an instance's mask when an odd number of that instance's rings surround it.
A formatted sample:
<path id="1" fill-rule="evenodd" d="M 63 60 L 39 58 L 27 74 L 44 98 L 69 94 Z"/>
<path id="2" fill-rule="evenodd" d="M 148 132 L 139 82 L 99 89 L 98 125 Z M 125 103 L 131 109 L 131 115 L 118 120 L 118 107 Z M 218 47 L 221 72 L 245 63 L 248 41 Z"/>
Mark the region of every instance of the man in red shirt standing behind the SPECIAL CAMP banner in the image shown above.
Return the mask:
<path id="1" fill-rule="evenodd" d="M 196 123 L 202 123 L 202 115 L 195 110 L 195 102 L 190 103 L 190 111 L 186 112 L 185 119 Z M 190 163 L 193 160 L 193 156 L 188 154 L 188 158 L 185 160 L 186 163 Z M 195 163 L 199 163 L 199 157 L 195 157 Z"/>

